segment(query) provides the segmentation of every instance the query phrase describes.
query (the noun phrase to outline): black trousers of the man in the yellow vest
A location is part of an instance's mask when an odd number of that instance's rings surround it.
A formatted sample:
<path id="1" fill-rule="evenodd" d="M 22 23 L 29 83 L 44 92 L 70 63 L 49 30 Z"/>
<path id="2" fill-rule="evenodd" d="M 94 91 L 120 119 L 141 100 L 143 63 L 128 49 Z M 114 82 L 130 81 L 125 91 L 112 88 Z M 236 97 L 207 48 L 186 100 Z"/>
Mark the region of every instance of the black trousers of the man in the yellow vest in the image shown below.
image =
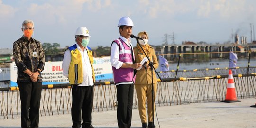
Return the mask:
<path id="1" fill-rule="evenodd" d="M 91 112 L 93 107 L 93 87 L 72 85 L 72 128 L 81 127 L 82 109 L 82 128 L 91 125 Z"/>

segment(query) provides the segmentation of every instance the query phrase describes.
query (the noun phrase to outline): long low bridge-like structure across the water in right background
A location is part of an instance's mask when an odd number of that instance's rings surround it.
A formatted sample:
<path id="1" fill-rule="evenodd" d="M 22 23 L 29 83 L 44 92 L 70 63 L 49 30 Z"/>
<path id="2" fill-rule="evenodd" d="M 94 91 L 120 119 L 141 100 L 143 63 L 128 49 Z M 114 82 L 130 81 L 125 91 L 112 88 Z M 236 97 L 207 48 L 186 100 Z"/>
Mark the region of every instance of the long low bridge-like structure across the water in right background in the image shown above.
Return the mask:
<path id="1" fill-rule="evenodd" d="M 201 52 L 207 54 L 209 58 L 228 58 L 229 52 L 237 53 L 238 57 L 248 57 L 248 51 L 251 52 L 251 57 L 256 56 L 256 44 L 220 44 L 220 45 L 168 45 L 163 46 L 161 52 L 157 54 L 164 55 L 167 60 L 174 60 L 179 57 L 179 54 L 194 54 Z"/>

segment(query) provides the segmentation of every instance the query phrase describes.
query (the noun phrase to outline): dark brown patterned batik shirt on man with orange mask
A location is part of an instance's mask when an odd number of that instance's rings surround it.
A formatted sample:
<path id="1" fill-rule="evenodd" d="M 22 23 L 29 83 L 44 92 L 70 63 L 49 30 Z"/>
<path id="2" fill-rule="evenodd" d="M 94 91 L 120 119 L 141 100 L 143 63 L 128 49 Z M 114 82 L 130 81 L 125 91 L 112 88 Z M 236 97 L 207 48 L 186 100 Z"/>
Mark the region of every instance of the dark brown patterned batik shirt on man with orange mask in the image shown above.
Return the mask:
<path id="1" fill-rule="evenodd" d="M 18 69 L 17 83 L 32 82 L 29 75 L 23 72 L 24 70 L 29 69 L 31 72 L 36 72 L 37 69 L 44 70 L 43 46 L 40 41 L 32 37 L 28 40 L 23 36 L 13 43 L 13 58 Z M 37 79 L 37 82 L 42 82 L 41 74 Z"/>

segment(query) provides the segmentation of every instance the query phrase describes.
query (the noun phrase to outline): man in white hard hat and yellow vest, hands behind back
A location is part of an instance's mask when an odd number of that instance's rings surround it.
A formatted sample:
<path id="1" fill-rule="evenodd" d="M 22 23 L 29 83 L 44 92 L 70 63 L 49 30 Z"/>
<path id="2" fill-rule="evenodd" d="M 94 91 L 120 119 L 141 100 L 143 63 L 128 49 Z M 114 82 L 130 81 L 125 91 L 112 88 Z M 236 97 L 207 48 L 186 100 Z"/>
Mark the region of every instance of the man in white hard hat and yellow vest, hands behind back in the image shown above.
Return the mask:
<path id="1" fill-rule="evenodd" d="M 78 27 L 76 44 L 66 49 L 62 69 L 72 87 L 72 128 L 94 128 L 91 125 L 93 107 L 93 85 L 95 82 L 93 56 L 89 44 L 90 35 L 86 27 Z M 82 124 L 81 124 L 82 109 Z"/>

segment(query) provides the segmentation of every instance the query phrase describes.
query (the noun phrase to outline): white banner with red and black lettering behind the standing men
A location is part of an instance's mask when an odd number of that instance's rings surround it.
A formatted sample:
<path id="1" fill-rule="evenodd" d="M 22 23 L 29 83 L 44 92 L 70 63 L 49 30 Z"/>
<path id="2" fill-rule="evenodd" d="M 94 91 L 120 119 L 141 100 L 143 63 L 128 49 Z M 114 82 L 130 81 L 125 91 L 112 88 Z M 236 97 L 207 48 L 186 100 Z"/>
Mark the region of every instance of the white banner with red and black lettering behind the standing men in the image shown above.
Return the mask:
<path id="1" fill-rule="evenodd" d="M 104 79 L 113 79 L 110 56 L 94 58 L 93 68 L 96 82 Z M 69 83 L 68 78 L 62 75 L 62 61 L 45 62 L 44 71 L 41 72 L 43 85 Z M 10 86 L 17 86 L 17 66 L 10 64 Z"/>

